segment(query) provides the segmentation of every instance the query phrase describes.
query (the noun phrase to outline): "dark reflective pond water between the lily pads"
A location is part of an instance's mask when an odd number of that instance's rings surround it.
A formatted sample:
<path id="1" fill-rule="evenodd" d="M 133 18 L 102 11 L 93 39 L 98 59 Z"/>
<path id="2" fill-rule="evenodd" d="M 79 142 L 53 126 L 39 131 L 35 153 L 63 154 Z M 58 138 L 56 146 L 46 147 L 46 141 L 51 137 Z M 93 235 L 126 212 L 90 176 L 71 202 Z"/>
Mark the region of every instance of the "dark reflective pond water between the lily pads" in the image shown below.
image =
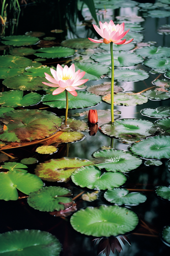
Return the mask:
<path id="1" fill-rule="evenodd" d="M 103 6 L 105 7 L 105 10 L 104 8 L 100 8 L 100 5 L 102 4 L 102 2 L 104 2 Z M 143 39 L 139 40 L 138 42 L 136 42 L 137 41 L 136 39 L 136 41 L 134 42 L 134 47 L 136 47 L 137 49 L 141 46 L 145 46 L 145 45 L 139 45 L 140 42 L 147 43 L 146 45 L 148 46 L 170 47 L 169 28 L 168 28 L 168 33 L 166 34 L 157 33 L 160 27 L 162 27 L 163 25 L 169 24 L 170 18 L 163 17 L 163 16 L 161 17 L 161 15 L 159 15 L 161 18 L 154 17 L 153 15 L 149 16 L 149 12 L 151 10 L 169 12 L 169 9 L 170 9 L 169 1 L 164 1 L 164 2 L 150 1 L 151 3 L 150 5 L 152 6 L 152 8 L 151 7 L 142 8 L 142 5 L 140 6 L 140 4 L 143 3 L 142 1 L 140 2 L 125 1 L 124 3 L 126 3 L 126 7 L 125 6 L 117 7 L 115 10 L 112 10 L 109 6 L 107 8 L 107 5 L 109 2 L 111 3 L 112 1 L 100 1 L 100 2 L 94 1 L 98 21 L 109 22 L 110 20 L 113 20 L 115 21 L 115 23 L 120 24 L 124 20 L 123 19 L 118 20 L 118 18 L 116 17 L 126 16 L 124 19 L 125 19 L 125 26 L 127 26 L 129 23 L 130 24 L 132 23 L 134 25 L 136 20 L 140 19 L 137 17 L 143 17 L 144 20 L 141 20 L 135 23 L 135 25 L 136 24 L 138 26 L 140 25 L 143 29 L 141 29 L 141 31 L 139 32 L 134 32 L 136 34 L 136 38 L 139 38 L 140 35 L 143 35 Z M 157 3 L 157 7 L 154 9 L 153 4 L 156 5 L 156 3 Z M 92 29 L 91 22 L 92 24 L 96 24 L 96 23 L 94 20 L 90 21 L 92 17 L 91 17 L 91 13 L 89 12 L 89 9 L 87 8 L 86 5 L 84 5 L 81 14 L 80 14 L 80 11 L 76 13 L 76 8 L 75 8 L 76 4 L 78 9 L 80 10 L 81 2 L 77 3 L 76 1 L 62 1 L 62 3 L 60 3 L 59 1 L 58 3 L 55 3 L 55 1 L 50 1 L 50 3 L 47 3 L 47 1 L 43 1 L 43 3 L 37 1 L 35 4 L 28 2 L 27 5 L 24 5 L 21 7 L 20 13 L 12 11 L 8 14 L 7 18 L 9 19 L 9 21 L 10 19 L 12 19 L 12 15 L 13 15 L 15 19 L 18 18 L 18 24 L 12 24 L 9 22 L 4 30 L 3 36 L 24 35 L 26 32 L 29 32 L 29 31 L 32 31 L 32 32 L 39 31 L 39 32 L 45 33 L 44 36 L 40 37 L 40 40 L 42 40 L 44 37 L 55 37 L 55 40 L 52 40 L 52 39 L 47 40 L 48 42 L 54 42 L 53 46 L 60 46 L 61 41 L 69 40 L 73 38 L 88 38 L 88 37 L 94 38 L 96 34 L 94 34 L 94 30 Z M 145 5 L 147 6 L 147 4 Z M 17 17 L 18 14 L 19 16 Z M 81 18 L 80 21 L 78 20 L 77 14 L 78 14 L 78 17 Z M 82 23 L 83 20 L 85 21 L 84 23 Z M 84 24 L 86 26 L 84 26 Z M 63 32 L 62 33 L 50 32 L 55 29 L 63 30 Z M 12 32 L 13 34 L 11 34 Z M 35 45 L 27 46 L 27 48 L 37 50 L 39 49 L 39 47 L 43 47 L 42 43 L 44 42 L 42 41 L 40 46 L 35 44 Z M 4 44 L 2 44 L 1 42 L 1 46 L 3 45 Z M 52 44 L 48 46 L 50 47 L 52 46 Z M 10 46 L 10 49 L 11 48 L 14 48 L 14 47 Z M 78 58 L 79 56 L 78 54 L 81 54 L 84 51 L 84 49 L 75 49 L 75 50 L 76 50 L 75 55 L 71 57 L 54 58 L 54 59 L 46 58 L 46 60 L 44 61 L 39 60 L 39 62 L 42 63 L 42 65 L 53 66 L 53 67 L 56 67 L 57 63 L 59 63 L 60 65 L 61 64 L 70 65 L 71 63 L 76 63 L 75 57 Z M 99 53 L 99 52 L 102 52 L 103 50 L 101 50 L 101 48 L 96 48 L 94 49 L 94 51 L 95 53 L 97 52 Z M 9 49 L 3 50 L 3 51 L 1 50 L 1 55 L 8 55 L 8 54 L 9 54 Z M 87 55 L 80 55 L 80 56 L 82 58 L 83 56 L 87 56 Z M 169 56 L 170 55 L 168 55 L 168 50 L 167 50 L 167 57 Z M 162 56 L 162 57 L 166 57 L 166 56 Z M 38 58 L 38 57 L 34 55 L 28 55 L 26 56 L 26 58 L 34 60 L 35 58 Z M 89 59 L 86 59 L 86 60 L 89 60 Z M 147 60 L 146 57 L 145 57 L 145 60 Z M 168 60 L 169 58 L 166 61 Z M 102 62 L 104 62 L 104 60 L 102 60 L 101 63 L 99 64 L 102 64 Z M 153 74 L 153 72 L 150 73 L 151 68 L 144 65 L 143 63 L 139 63 L 137 65 L 129 66 L 129 67 L 122 67 L 122 68 L 129 68 L 129 69 L 135 69 L 135 70 L 142 69 L 149 74 L 149 77 L 147 79 L 144 79 L 141 81 L 131 81 L 131 82 L 116 81 L 116 85 L 122 87 L 124 90 L 123 92 L 139 92 L 139 91 L 145 90 L 146 88 L 153 86 L 152 81 L 154 79 L 168 80 L 168 78 L 164 77 L 164 73 L 167 73 L 167 71 L 170 70 L 170 67 L 168 67 L 163 72 L 162 68 L 159 66 L 159 68 L 157 68 L 159 69 L 159 71 Z M 115 70 L 118 70 L 118 68 L 115 67 Z M 108 74 L 107 74 L 102 79 L 89 80 L 88 82 L 85 83 L 85 85 L 89 87 L 91 85 L 101 84 L 103 82 L 108 82 L 108 81 L 110 81 L 110 78 L 108 77 Z M 10 87 L 11 82 L 9 82 L 8 86 L 4 86 L 4 83 L 2 84 L 2 82 L 3 82 L 3 79 L 1 79 L 1 92 L 4 92 L 4 91 L 7 92 L 13 89 Z M 82 91 L 86 91 L 86 90 L 83 89 Z M 39 90 L 36 92 L 39 93 L 40 95 L 45 94 L 44 90 Z M 27 94 L 27 91 L 24 91 L 24 95 L 26 94 Z M 101 102 L 98 101 L 98 102 L 99 103 L 96 104 L 95 106 L 91 105 L 86 108 L 77 107 L 76 109 L 74 108 L 69 109 L 68 116 L 79 119 L 79 120 L 84 120 L 85 122 L 87 122 L 87 118 L 85 118 L 85 115 L 78 116 L 77 113 L 82 113 L 83 111 L 87 111 L 89 109 L 97 109 L 97 111 L 100 109 L 102 110 L 110 109 L 110 104 L 104 101 L 101 101 Z M 145 108 L 157 108 L 157 107 L 169 106 L 170 105 L 169 103 L 170 103 L 170 99 L 164 99 L 164 100 L 148 99 L 146 103 L 143 103 L 140 105 L 138 104 L 132 105 L 132 106 L 115 105 L 114 109 L 119 111 L 115 115 L 115 121 L 117 118 L 118 119 L 139 118 L 139 119 L 154 122 L 156 120 L 159 120 L 160 118 L 156 118 L 156 117 L 153 118 L 153 117 L 148 117 L 146 115 L 141 115 L 140 111 Z M 1 103 L 1 106 L 2 105 L 3 103 Z M 48 107 L 47 105 L 42 104 L 42 102 L 36 105 L 33 105 L 33 104 L 31 106 L 28 105 L 26 107 L 22 107 L 22 106 L 14 107 L 14 109 L 30 109 L 32 111 L 33 109 L 41 109 L 41 110 L 45 109 L 47 111 L 55 113 L 57 116 L 63 116 L 65 112 L 65 109 L 63 108 L 58 109 L 57 107 L 54 107 L 54 108 Z M 170 114 L 166 116 L 170 116 Z M 163 118 L 166 116 L 163 116 Z M 106 120 L 107 120 L 106 122 L 109 121 L 108 119 Z M 2 122 L 2 124 L 7 125 L 7 123 L 5 123 L 5 120 L 3 118 L 0 118 L 0 121 Z M 99 122 L 99 125 L 101 125 L 101 122 Z M 24 158 L 36 158 L 38 163 L 35 163 L 32 165 L 29 164 L 27 165 L 27 169 L 26 169 L 28 173 L 34 174 L 34 169 L 36 168 L 37 165 L 39 165 L 40 163 L 44 163 L 45 161 L 49 161 L 50 159 L 60 159 L 62 157 L 68 157 L 68 158 L 86 159 L 93 162 L 94 157 L 92 156 L 92 154 L 96 151 L 99 151 L 103 146 L 107 148 L 111 146 L 114 150 L 129 151 L 129 147 L 131 143 L 135 142 L 135 140 L 131 142 L 130 140 L 128 140 L 128 138 L 126 138 L 126 140 L 120 140 L 115 138 L 114 136 L 112 137 L 106 136 L 103 133 L 101 133 L 100 127 L 95 136 L 90 136 L 88 131 L 83 131 L 82 133 L 85 135 L 85 138 L 83 140 L 77 141 L 75 143 L 68 143 L 68 144 L 62 143 L 58 145 L 57 147 L 58 151 L 53 154 L 38 154 L 37 152 L 35 152 L 37 147 L 42 146 L 42 144 L 39 144 L 38 142 L 34 145 L 30 145 L 27 147 L 12 148 L 4 151 L 2 150 L 3 152 L 9 154 L 8 160 L 5 160 L 4 163 L 8 163 L 8 162 L 20 163 L 20 161 Z M 155 133 L 154 135 L 158 135 L 158 133 Z M 164 134 L 160 134 L 160 135 L 164 135 Z M 169 135 L 169 134 L 165 134 L 165 135 Z M 15 143 L 15 141 L 12 141 L 12 142 Z M 3 140 L 2 140 L 2 143 L 3 143 Z M 147 151 L 145 147 L 146 145 L 142 148 L 141 151 L 143 152 Z M 13 157 L 13 159 L 11 157 Z M 156 166 L 156 165 L 146 166 L 144 162 L 146 161 L 147 157 L 141 157 L 142 163 L 136 169 L 130 172 L 126 172 L 124 174 L 126 177 L 126 181 L 120 187 L 128 189 L 129 192 L 143 193 L 143 195 L 145 195 L 147 199 L 145 202 L 140 203 L 138 205 L 124 206 L 123 204 L 121 206 L 127 210 L 131 210 L 134 213 L 136 213 L 139 221 L 137 226 L 133 230 L 129 230 L 130 232 L 125 233 L 125 235 L 127 235 L 128 239 L 130 240 L 131 246 L 127 242 L 125 242 L 125 244 L 121 242 L 121 246 L 123 250 L 120 253 L 117 252 L 117 250 L 115 250 L 114 255 L 155 256 L 155 255 L 168 255 L 168 253 L 170 253 L 170 247 L 168 245 L 165 245 L 161 239 L 161 233 L 162 233 L 163 227 L 170 225 L 170 219 L 169 219 L 170 198 L 169 200 L 163 199 L 160 196 L 157 196 L 155 193 L 155 189 L 157 186 L 168 187 L 170 184 L 170 173 L 168 170 L 168 163 L 167 163 L 168 158 L 165 158 L 165 157 L 155 158 L 156 160 L 160 160 L 162 162 L 160 166 Z M 154 159 L 154 157 L 152 158 L 148 157 L 148 159 Z M 6 171 L 3 169 L 3 161 L 1 163 L 1 169 L 2 171 Z M 105 172 L 103 169 L 102 171 Z M 46 180 L 43 180 L 43 182 L 45 187 L 60 186 L 60 187 L 71 190 L 71 193 L 72 193 L 71 198 L 74 198 L 76 195 L 78 195 L 81 192 L 91 193 L 93 191 L 96 191 L 96 189 L 89 189 L 86 187 L 80 187 L 78 185 L 75 185 L 71 181 L 71 179 L 69 179 L 66 183 L 50 182 Z M 104 192 L 106 191 L 106 189 L 105 190 L 98 189 L 98 191 L 99 191 L 98 198 L 92 202 L 82 200 L 81 195 L 79 195 L 76 199 L 74 199 L 77 210 L 85 209 L 86 207 L 98 207 L 100 205 L 114 205 L 114 203 L 110 203 L 104 198 Z M 60 256 L 78 256 L 78 255 L 95 256 L 97 255 L 97 245 L 94 245 L 94 241 L 93 241 L 93 239 L 96 238 L 97 236 L 81 234 L 80 232 L 77 232 L 76 230 L 74 230 L 70 224 L 70 217 L 72 213 L 67 217 L 52 216 L 47 211 L 39 211 L 29 206 L 27 203 L 27 195 L 24 195 L 19 192 L 19 196 L 21 197 L 21 199 L 18 199 L 18 200 L 8 200 L 8 201 L 0 200 L 0 219 L 1 219 L 0 233 L 12 231 L 12 230 L 21 230 L 21 229 L 38 229 L 42 231 L 47 231 L 52 235 L 56 236 L 56 238 L 61 243 L 62 249 L 59 254 Z M 107 229 L 107 227 L 103 226 L 103 229 Z M 123 233 L 119 233 L 119 234 L 123 235 Z M 2 254 L 9 255 L 7 254 L 7 252 Z M 24 255 L 24 254 L 15 254 L 15 252 L 13 252 L 13 254 L 10 254 L 10 255 Z M 40 255 L 40 254 L 36 254 L 36 255 Z M 110 255 L 113 255 L 113 253 L 110 252 Z"/>

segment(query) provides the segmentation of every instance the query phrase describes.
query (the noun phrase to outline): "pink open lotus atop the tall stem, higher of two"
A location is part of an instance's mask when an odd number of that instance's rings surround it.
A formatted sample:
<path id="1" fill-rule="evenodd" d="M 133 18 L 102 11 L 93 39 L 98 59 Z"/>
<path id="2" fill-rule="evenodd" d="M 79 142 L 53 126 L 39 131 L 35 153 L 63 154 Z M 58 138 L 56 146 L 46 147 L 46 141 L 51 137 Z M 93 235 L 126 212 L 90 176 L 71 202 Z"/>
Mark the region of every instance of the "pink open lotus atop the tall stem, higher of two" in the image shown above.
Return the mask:
<path id="1" fill-rule="evenodd" d="M 124 23 L 114 25 L 113 21 L 110 21 L 109 23 L 101 23 L 99 22 L 100 29 L 93 25 L 95 31 L 100 35 L 100 37 L 103 38 L 103 40 L 94 40 L 91 38 L 88 38 L 93 43 L 104 43 L 109 44 L 110 42 L 113 42 L 116 45 L 125 45 L 130 43 L 133 39 L 126 41 L 126 39 L 122 39 L 129 30 L 124 32 Z"/>

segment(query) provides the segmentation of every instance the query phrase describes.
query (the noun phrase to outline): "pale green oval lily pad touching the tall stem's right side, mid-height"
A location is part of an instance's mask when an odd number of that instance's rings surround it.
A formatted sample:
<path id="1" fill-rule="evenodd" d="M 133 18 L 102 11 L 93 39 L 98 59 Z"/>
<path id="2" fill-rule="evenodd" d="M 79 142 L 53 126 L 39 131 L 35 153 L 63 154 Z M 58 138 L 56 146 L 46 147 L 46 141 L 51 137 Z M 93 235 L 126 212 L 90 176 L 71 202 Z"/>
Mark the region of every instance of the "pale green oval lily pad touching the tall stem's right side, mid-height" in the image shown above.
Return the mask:
<path id="1" fill-rule="evenodd" d="M 111 77 L 111 73 L 109 73 Z M 118 81 L 136 82 L 142 81 L 149 77 L 149 74 L 142 69 L 115 69 L 114 79 Z"/>

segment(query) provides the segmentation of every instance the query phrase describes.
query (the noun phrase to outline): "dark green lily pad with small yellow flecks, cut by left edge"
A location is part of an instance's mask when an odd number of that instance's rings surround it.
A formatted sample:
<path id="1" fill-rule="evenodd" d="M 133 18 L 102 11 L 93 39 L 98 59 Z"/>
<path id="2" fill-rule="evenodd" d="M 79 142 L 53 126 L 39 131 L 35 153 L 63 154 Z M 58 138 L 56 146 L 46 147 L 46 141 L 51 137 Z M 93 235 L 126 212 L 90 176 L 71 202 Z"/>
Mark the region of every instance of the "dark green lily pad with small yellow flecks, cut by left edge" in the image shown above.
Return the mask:
<path id="1" fill-rule="evenodd" d="M 32 61 L 20 56 L 2 55 L 0 56 L 0 67 L 2 68 L 25 68 L 31 66 Z"/>

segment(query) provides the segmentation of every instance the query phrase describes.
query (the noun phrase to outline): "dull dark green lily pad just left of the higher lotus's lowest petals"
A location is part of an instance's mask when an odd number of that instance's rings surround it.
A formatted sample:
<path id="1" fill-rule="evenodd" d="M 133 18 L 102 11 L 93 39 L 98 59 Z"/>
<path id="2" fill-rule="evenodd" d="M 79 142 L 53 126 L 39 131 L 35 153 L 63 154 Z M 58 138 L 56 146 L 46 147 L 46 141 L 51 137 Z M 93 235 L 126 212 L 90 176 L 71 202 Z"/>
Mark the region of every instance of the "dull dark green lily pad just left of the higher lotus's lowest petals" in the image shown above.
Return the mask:
<path id="1" fill-rule="evenodd" d="M 94 49 L 101 45 L 100 43 L 92 43 L 88 38 L 74 38 L 68 39 L 61 42 L 64 47 L 75 48 L 75 49 Z"/>

